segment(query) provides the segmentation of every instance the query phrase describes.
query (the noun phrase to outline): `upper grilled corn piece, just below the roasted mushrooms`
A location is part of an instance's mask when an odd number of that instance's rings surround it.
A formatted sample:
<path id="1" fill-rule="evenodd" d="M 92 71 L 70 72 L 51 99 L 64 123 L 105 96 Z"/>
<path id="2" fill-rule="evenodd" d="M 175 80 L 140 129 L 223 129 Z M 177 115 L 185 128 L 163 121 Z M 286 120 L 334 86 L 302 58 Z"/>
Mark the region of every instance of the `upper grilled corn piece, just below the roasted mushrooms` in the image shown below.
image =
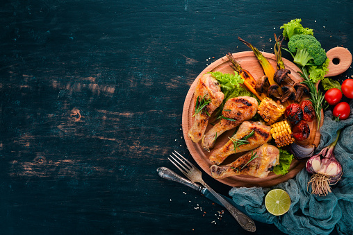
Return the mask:
<path id="1" fill-rule="evenodd" d="M 257 112 L 267 125 L 271 125 L 284 114 L 284 110 L 286 108 L 283 105 L 274 102 L 272 98 L 265 97 L 258 105 Z"/>

